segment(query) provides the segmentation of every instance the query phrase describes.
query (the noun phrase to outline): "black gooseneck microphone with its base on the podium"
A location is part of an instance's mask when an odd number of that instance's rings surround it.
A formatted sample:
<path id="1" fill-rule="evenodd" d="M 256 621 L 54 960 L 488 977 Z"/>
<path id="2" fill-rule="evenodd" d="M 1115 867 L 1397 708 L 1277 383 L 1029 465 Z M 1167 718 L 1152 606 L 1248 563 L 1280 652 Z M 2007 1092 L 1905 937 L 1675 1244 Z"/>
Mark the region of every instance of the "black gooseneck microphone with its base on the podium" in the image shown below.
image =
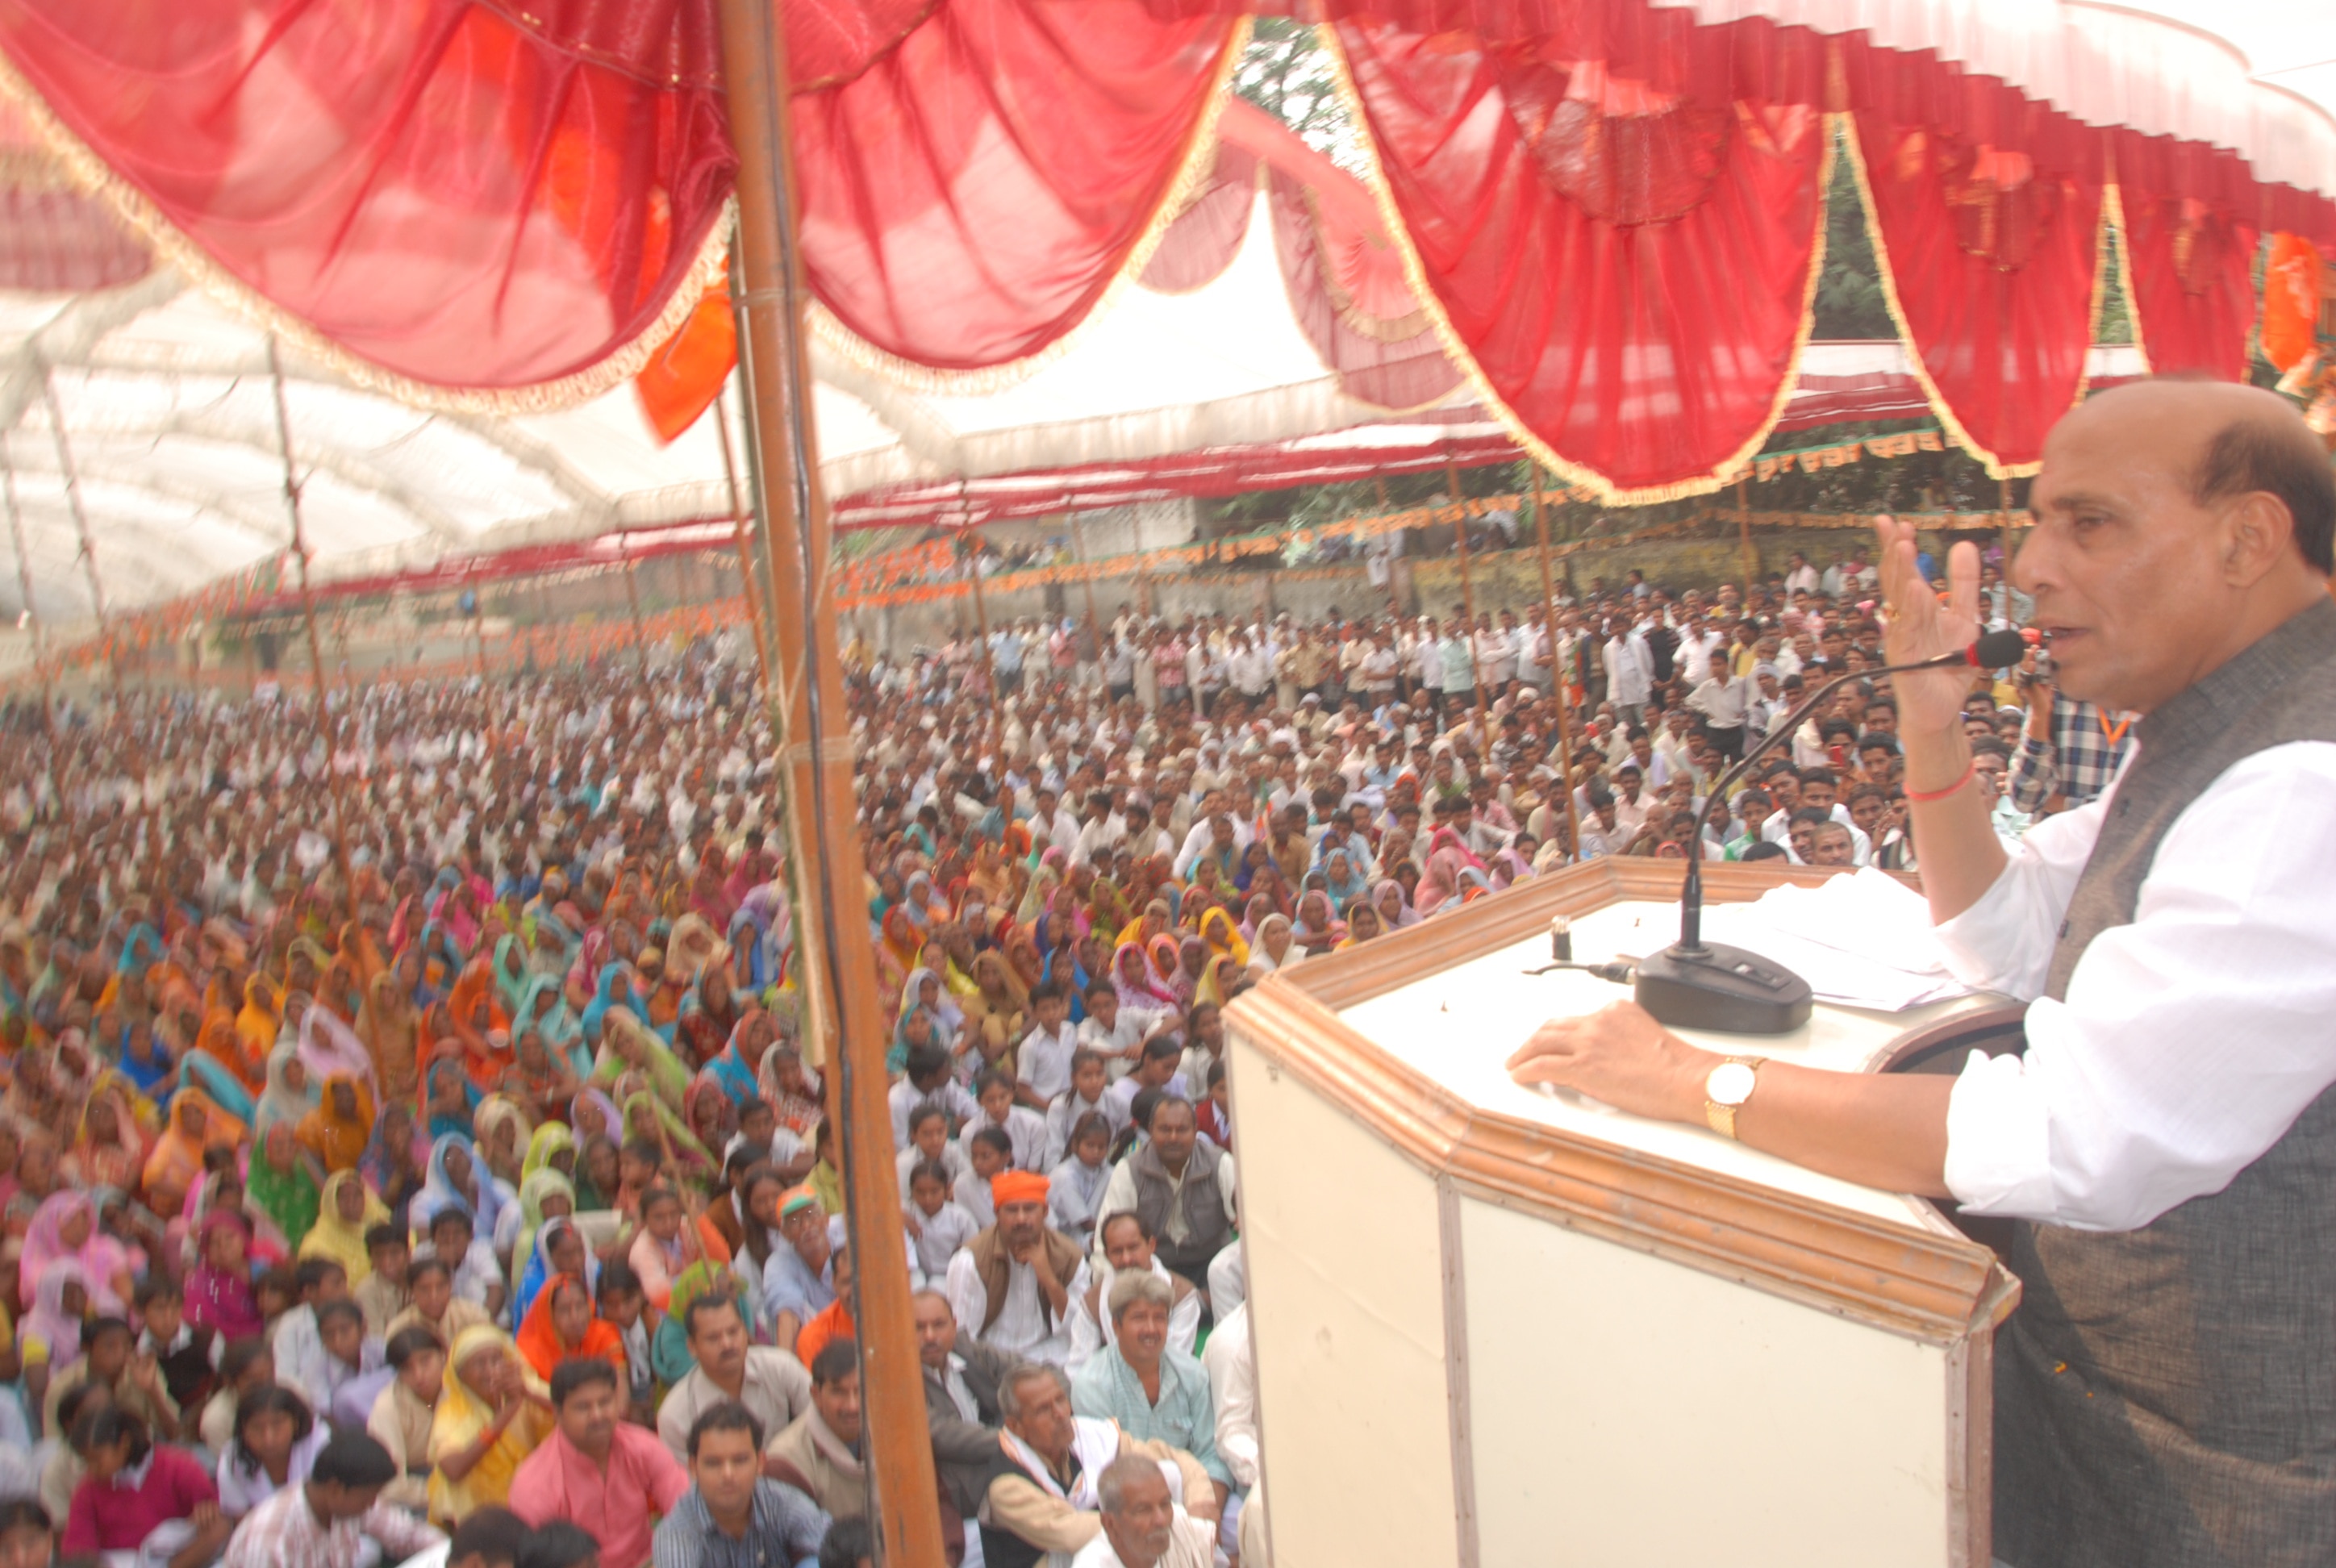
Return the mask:
<path id="1" fill-rule="evenodd" d="M 1743 762 L 1722 773 L 1705 792 L 1703 811 L 1696 813 L 1696 832 L 1689 839 L 1687 886 L 1680 888 L 1680 939 L 1661 953 L 1640 958 L 1638 1005 L 1661 1024 L 1715 1028 L 1731 1035 L 1787 1035 L 1808 1024 L 1813 995 L 1806 979 L 1759 953 L 1703 939 L 1703 827 L 1712 818 L 1712 806 L 1726 799 L 1729 788 L 1745 776 L 1745 769 L 1792 736 L 1817 703 L 1852 680 L 1911 671 L 1993 671 L 2018 664 L 2025 652 L 2028 638 L 2018 631 L 1988 631 L 1958 652 L 1918 664 L 1834 675 L 1810 692 L 1782 724 L 1773 727 L 1759 745 L 1745 752 Z"/>

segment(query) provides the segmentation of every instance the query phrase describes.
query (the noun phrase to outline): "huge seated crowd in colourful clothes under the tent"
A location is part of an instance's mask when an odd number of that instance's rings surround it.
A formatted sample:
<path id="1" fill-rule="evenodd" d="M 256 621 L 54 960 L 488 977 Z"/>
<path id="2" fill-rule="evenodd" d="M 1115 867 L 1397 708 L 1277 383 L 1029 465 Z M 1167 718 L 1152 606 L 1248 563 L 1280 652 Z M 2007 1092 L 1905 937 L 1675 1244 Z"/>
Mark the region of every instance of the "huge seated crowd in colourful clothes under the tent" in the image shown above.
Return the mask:
<path id="1" fill-rule="evenodd" d="M 1878 668 L 1871 601 L 1794 556 L 1556 617 L 848 652 L 888 1031 L 848 1049 L 892 1082 L 953 1556 L 1264 1563 L 1226 1002 L 1577 858 L 1913 867 L 1871 680 L 1694 827 Z M 1967 713 L 2007 837 L 2123 745 L 2049 668 Z M 7 736 L 0 1568 L 869 1556 L 750 659 Z"/>

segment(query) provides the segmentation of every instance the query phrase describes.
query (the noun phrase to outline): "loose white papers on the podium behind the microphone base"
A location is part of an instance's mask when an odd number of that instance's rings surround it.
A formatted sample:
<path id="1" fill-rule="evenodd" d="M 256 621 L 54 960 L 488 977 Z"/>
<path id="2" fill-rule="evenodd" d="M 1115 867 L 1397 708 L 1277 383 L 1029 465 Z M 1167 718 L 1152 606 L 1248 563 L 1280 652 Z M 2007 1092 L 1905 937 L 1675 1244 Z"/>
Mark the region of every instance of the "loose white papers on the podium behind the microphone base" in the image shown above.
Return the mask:
<path id="1" fill-rule="evenodd" d="M 1705 904 L 1703 937 L 1785 965 L 1841 1007 L 1906 1012 L 1972 993 L 1948 974 L 1923 895 L 1871 867 L 1750 904 Z"/>

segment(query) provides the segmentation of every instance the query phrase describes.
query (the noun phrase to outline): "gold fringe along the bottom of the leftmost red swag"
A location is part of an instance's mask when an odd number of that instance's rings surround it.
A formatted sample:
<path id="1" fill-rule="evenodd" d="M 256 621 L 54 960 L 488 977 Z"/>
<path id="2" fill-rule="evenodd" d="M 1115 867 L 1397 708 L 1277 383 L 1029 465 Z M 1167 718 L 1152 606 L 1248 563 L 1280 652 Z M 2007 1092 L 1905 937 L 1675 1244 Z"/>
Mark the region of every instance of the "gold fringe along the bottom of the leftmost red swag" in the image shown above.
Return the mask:
<path id="1" fill-rule="evenodd" d="M 556 381 L 537 381 L 533 386 L 514 388 L 451 388 L 434 381 L 416 381 L 413 376 L 376 365 L 374 360 L 343 348 L 334 339 L 325 337 L 313 322 L 278 306 L 220 264 L 217 257 L 180 229 L 142 189 L 114 173 L 114 168 L 98 157 L 89 143 L 65 126 L 65 122 L 61 122 L 49 107 L 49 100 L 40 96 L 40 89 L 35 89 L 16 70 L 16 63 L 7 56 L 7 51 L 0 51 L 0 100 L 23 112 L 26 124 L 33 126 L 35 136 L 40 136 L 63 166 L 72 187 L 112 208 L 112 213 L 154 250 L 154 257 L 161 264 L 173 266 L 194 287 L 210 299 L 217 299 L 250 325 L 280 337 L 304 360 L 322 365 L 369 393 L 395 397 L 397 402 L 416 409 L 444 414 L 554 414 L 558 409 L 572 409 L 591 402 L 610 388 L 631 381 L 633 374 L 649 362 L 649 355 L 654 355 L 663 341 L 673 337 L 684 320 L 689 320 L 689 313 L 698 306 L 698 294 L 719 280 L 722 264 L 729 257 L 734 203 L 724 203 L 705 241 L 698 245 L 696 262 L 691 262 L 689 271 L 682 273 L 656 318 L 635 337 L 619 344 L 612 353 L 603 355 L 596 365 L 558 376 Z"/>

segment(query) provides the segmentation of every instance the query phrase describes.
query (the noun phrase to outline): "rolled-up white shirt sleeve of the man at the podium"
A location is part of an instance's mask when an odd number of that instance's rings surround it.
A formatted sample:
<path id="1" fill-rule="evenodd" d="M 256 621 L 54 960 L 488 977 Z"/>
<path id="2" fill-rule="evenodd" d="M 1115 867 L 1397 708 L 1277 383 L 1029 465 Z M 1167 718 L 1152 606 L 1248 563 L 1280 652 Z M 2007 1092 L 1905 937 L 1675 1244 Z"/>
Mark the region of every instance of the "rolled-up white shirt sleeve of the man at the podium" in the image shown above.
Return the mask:
<path id="1" fill-rule="evenodd" d="M 2065 1002 L 2028 1010 L 2025 1059 L 1955 1080 L 1946 1185 L 1962 1206 L 2137 1229 L 2278 1143 L 2336 1082 L 2329 867 L 2336 745 L 2275 745 L 2201 792 L 2158 844 L 2133 923 L 2093 937 Z M 2035 995 L 2060 916 L 2018 918 L 2037 951 L 1997 946 L 1997 972 L 2035 974 Z"/>

